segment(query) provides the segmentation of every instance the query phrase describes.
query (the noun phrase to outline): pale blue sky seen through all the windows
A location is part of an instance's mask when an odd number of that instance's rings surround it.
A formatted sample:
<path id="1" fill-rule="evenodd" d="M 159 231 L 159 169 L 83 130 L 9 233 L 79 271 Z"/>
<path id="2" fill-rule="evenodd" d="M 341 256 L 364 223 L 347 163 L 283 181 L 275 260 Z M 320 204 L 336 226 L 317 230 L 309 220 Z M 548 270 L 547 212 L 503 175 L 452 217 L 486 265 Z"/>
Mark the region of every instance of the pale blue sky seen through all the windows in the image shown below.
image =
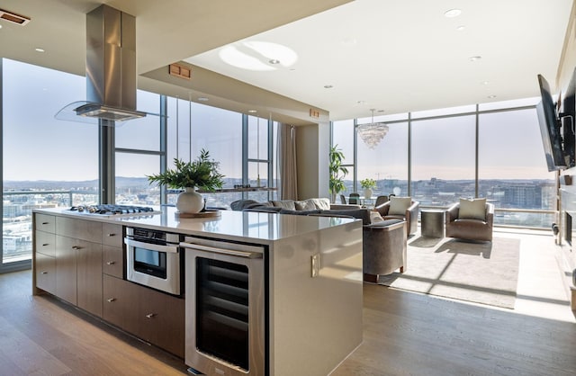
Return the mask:
<path id="1" fill-rule="evenodd" d="M 44 67 L 3 60 L 4 69 L 4 180 L 92 180 L 98 176 L 98 128 L 54 118 L 69 103 L 85 100 L 85 77 Z M 534 102 L 534 99 L 531 100 Z M 168 160 L 188 160 L 207 148 L 220 161 L 221 173 L 238 177 L 241 171 L 241 114 L 187 101 L 168 101 Z M 156 94 L 140 92 L 138 110 L 159 112 Z M 467 111 L 467 109 L 465 109 Z M 455 110 L 445 110 L 451 112 Z M 423 115 L 438 114 L 433 113 Z M 192 113 L 192 121 L 190 114 Z M 375 121 L 400 116 L 375 117 Z M 251 134 L 257 133 L 251 117 Z M 370 121 L 361 119 L 359 122 Z M 412 180 L 474 178 L 474 116 L 412 122 Z M 178 126 L 176 127 L 176 122 Z M 158 118 L 129 121 L 116 131 L 117 148 L 158 150 Z M 266 121 L 261 121 L 261 143 Z M 192 127 L 192 142 L 190 129 Z M 552 179 L 545 167 L 536 111 L 495 112 L 480 115 L 480 177 Z M 177 133 L 177 134 L 176 134 Z M 335 143 L 353 157 L 352 121 L 335 123 Z M 180 139 L 176 148 L 176 139 Z M 250 140 L 255 149 L 256 137 Z M 358 140 L 358 177 L 407 179 L 407 122 L 392 122 L 374 150 Z M 192 146 L 192 152 L 191 152 Z M 260 151 L 261 157 L 266 151 Z M 255 156 L 250 156 L 255 157 Z M 141 177 L 157 172 L 157 156 L 117 155 L 117 175 Z M 351 179 L 352 176 L 347 176 Z"/>

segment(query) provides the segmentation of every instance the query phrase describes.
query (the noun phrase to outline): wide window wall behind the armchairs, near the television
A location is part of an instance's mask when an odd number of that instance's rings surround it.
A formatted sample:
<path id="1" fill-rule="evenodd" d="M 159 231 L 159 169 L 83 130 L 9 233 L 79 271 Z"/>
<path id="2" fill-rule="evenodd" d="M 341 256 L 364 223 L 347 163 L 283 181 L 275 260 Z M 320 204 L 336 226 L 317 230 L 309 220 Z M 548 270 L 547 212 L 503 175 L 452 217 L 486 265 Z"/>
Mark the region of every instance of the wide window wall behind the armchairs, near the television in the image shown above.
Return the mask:
<path id="1" fill-rule="evenodd" d="M 376 117 L 389 132 L 374 149 L 360 138 L 347 147 L 348 160 L 356 160 L 351 185 L 360 192 L 358 182 L 372 178 L 375 194 L 410 195 L 422 206 L 486 197 L 496 206 L 496 224 L 548 228 L 556 185 L 545 166 L 537 99 Z M 355 139 L 354 128 L 339 125 L 351 122 L 334 122 L 333 145 Z"/>

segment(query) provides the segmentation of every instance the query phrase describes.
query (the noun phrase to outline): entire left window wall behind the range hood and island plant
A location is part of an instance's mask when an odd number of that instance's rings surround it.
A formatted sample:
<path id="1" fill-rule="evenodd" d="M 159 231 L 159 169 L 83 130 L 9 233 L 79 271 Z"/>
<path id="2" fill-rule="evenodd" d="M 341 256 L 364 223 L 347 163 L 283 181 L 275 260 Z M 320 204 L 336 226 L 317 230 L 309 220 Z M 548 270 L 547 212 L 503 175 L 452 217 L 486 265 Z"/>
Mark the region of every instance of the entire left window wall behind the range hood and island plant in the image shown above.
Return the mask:
<path id="1" fill-rule="evenodd" d="M 0 87 L 1 273 L 30 267 L 32 209 L 100 203 L 100 138 L 95 121 L 55 119 L 68 104 L 85 100 L 85 77 L 1 59 Z M 241 198 L 276 197 L 277 124 L 269 116 L 258 118 L 143 91 L 138 91 L 137 103 L 148 116 L 117 122 L 112 131 L 114 175 L 110 178 L 116 203 L 164 203 L 158 187 L 148 184 L 146 176 L 173 167 L 175 157 L 196 158 L 202 148 L 220 162 L 224 188 L 229 190 L 204 193 L 207 205 L 228 207 Z M 248 117 L 251 125 L 244 127 L 243 119 Z M 250 161 L 243 150 L 249 150 Z M 260 185 L 272 190 L 234 192 L 238 184 L 257 185 L 258 175 Z M 173 204 L 175 194 L 167 196 L 166 203 Z"/>

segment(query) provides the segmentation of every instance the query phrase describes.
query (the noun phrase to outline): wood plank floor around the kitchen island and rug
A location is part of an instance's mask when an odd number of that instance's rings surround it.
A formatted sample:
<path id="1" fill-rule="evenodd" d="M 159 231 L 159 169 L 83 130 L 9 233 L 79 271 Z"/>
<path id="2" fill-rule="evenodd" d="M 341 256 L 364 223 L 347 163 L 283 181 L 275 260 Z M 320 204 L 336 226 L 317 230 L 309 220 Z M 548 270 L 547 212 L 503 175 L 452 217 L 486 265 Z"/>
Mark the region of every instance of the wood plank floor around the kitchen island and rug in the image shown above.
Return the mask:
<path id="1" fill-rule="evenodd" d="M 521 239 L 515 309 L 365 284 L 364 342 L 332 375 L 576 374 L 576 321 L 554 239 L 495 236 Z M 0 274 L 0 375 L 178 374 L 186 374 L 181 360 L 58 300 L 32 297 L 30 271 Z"/>

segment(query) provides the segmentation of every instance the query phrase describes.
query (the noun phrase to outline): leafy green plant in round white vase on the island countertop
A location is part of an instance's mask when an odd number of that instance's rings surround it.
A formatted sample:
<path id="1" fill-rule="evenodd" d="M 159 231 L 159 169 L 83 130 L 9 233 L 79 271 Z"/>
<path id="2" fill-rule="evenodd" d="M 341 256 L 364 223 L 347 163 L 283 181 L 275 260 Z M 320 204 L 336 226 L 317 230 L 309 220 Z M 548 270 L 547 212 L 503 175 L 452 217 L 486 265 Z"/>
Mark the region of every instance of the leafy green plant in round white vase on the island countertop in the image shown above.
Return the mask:
<path id="1" fill-rule="evenodd" d="M 210 158 L 207 150 L 200 150 L 200 156 L 192 162 L 174 158 L 175 169 L 156 175 L 147 175 L 150 184 L 157 183 L 173 189 L 184 189 L 176 199 L 176 209 L 181 213 L 197 213 L 203 209 L 202 195 L 195 192 L 215 191 L 222 188 L 222 177 L 218 171 L 220 162 Z"/>

